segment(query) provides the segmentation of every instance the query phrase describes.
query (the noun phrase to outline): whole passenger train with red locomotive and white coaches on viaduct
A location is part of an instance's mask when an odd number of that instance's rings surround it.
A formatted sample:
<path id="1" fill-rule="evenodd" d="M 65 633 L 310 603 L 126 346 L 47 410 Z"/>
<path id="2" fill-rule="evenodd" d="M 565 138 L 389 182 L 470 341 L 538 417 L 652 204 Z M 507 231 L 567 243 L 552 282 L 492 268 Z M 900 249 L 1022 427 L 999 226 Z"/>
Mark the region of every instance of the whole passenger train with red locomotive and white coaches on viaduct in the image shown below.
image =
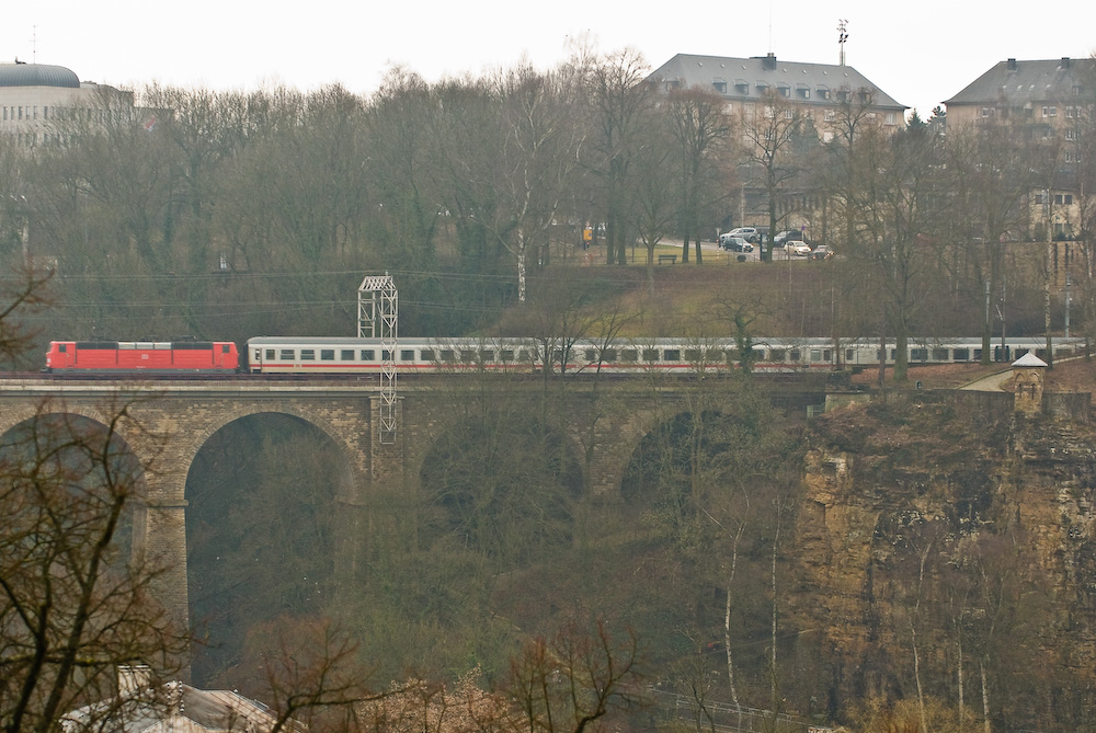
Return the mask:
<path id="1" fill-rule="evenodd" d="M 1078 339 L 1053 343 L 1054 358 L 1084 347 Z M 914 339 L 911 365 L 977 363 L 980 339 Z M 991 360 L 1007 363 L 1035 353 L 1046 342 L 1012 337 L 992 346 Z M 61 375 L 317 375 L 370 376 L 436 373 L 715 374 L 738 368 L 743 358 L 732 339 L 563 337 L 379 339 L 258 336 L 242 350 L 224 341 L 54 341 L 45 370 Z M 880 347 L 867 339 L 754 339 L 749 363 L 760 373 L 831 371 L 893 364 L 893 341 Z"/>

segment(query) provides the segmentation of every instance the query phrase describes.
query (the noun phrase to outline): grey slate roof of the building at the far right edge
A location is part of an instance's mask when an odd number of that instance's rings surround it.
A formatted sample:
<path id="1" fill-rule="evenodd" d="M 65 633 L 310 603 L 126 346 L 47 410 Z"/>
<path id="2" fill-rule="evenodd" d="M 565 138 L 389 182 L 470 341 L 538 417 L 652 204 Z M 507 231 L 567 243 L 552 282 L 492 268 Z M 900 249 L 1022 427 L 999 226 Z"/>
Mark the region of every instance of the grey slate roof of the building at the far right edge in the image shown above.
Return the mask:
<path id="1" fill-rule="evenodd" d="M 1092 67 L 1093 60 L 1087 58 L 1047 61 L 1011 58 L 998 61 L 945 104 L 992 104 L 1008 100 L 1014 106 L 1023 106 L 1062 102 L 1076 96 L 1074 87 L 1084 87 L 1084 77 L 1093 73 Z"/>

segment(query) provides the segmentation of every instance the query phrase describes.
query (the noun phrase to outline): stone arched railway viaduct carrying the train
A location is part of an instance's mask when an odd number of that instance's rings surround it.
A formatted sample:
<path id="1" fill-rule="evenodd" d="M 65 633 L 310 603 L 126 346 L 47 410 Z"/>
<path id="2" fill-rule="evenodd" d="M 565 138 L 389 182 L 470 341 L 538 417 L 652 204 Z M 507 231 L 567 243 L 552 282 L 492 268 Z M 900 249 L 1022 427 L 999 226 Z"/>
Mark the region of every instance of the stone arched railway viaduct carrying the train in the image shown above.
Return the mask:
<path id="1" fill-rule="evenodd" d="M 475 381 L 475 383 L 472 383 Z M 181 622 L 189 622 L 186 573 L 186 478 L 209 438 L 252 415 L 281 413 L 321 431 L 343 457 L 334 499 L 339 513 L 335 577 L 353 577 L 369 562 L 378 515 L 398 509 L 419 491 L 432 446 L 482 399 L 505 399 L 551 390 L 563 404 L 563 440 L 582 469 L 583 500 L 615 502 L 628 461 L 640 439 L 660 422 L 689 411 L 696 390 L 687 381 L 654 385 L 613 381 L 420 377 L 401 382 L 395 442 L 379 439 L 380 385 L 373 380 L 0 380 L 0 435 L 39 415 L 80 415 L 110 425 L 142 466 L 141 505 L 134 517 L 134 552 L 157 559 L 168 571 L 156 594 Z M 824 398 L 818 379 L 775 387 L 773 394 L 801 403 Z"/>

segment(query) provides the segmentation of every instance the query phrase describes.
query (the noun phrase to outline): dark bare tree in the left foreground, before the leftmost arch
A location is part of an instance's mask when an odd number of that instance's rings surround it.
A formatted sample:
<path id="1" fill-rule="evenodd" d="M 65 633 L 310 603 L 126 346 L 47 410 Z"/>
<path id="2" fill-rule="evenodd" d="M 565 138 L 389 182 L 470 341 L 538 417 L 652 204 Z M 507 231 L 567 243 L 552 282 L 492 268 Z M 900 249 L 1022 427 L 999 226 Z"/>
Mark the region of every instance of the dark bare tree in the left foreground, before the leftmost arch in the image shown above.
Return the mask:
<path id="1" fill-rule="evenodd" d="M 129 405 L 104 405 L 105 425 L 62 413 L 43 404 L 7 434 L 0 460 L 0 725 L 10 733 L 54 730 L 68 710 L 114 697 L 119 664 L 178 669 L 189 644 L 153 597 L 161 569 L 125 558 L 149 468 L 118 438 L 140 430 Z"/>

